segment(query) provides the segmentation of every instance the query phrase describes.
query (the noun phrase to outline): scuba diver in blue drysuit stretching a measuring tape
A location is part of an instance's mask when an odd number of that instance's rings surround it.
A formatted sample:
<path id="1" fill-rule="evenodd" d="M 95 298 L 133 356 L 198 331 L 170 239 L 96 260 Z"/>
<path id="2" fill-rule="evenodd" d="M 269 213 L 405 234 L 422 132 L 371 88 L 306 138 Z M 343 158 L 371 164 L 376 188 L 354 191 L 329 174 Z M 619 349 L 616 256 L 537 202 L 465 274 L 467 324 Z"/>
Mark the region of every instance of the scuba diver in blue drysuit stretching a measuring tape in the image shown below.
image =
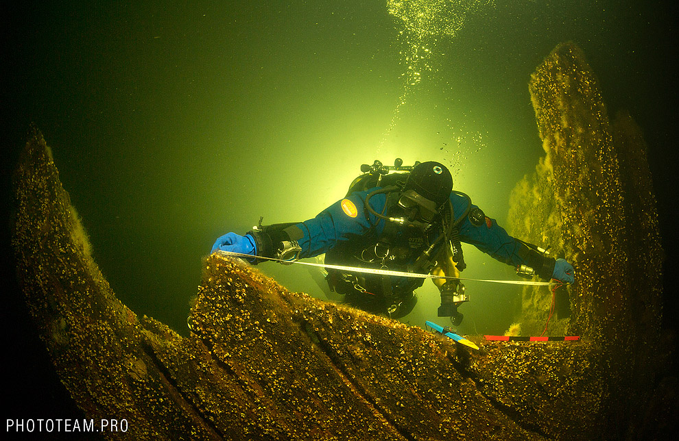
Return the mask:
<path id="1" fill-rule="evenodd" d="M 473 244 L 519 275 L 573 283 L 573 266 L 553 259 L 532 244 L 512 238 L 470 197 L 453 190 L 453 177 L 438 162 L 394 166 L 375 161 L 344 197 L 313 219 L 254 227 L 244 236 L 233 232 L 217 239 L 217 250 L 279 260 L 298 260 L 325 253 L 325 263 L 460 277 L 464 256 L 460 242 Z M 330 289 L 344 302 L 373 314 L 401 318 L 417 302 L 415 290 L 424 279 L 328 268 Z M 459 325 L 457 307 L 468 296 L 457 279 L 433 279 L 441 294 L 438 316 Z"/>

